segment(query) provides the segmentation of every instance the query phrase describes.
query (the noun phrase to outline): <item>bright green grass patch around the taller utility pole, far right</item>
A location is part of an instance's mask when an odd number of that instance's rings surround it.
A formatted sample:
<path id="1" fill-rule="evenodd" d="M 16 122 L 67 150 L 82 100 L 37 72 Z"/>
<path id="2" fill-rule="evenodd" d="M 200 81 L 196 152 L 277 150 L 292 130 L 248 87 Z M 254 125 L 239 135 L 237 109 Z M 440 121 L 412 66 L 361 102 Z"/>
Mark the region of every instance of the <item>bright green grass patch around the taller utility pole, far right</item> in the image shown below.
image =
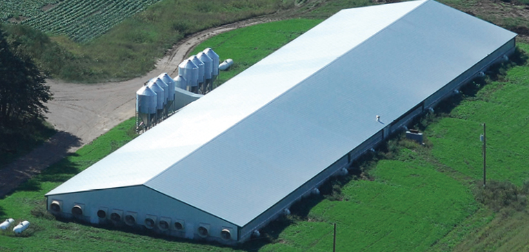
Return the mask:
<path id="1" fill-rule="evenodd" d="M 527 48 L 525 44 L 521 48 Z M 487 177 L 520 186 L 529 178 L 529 68 L 508 70 L 507 81 L 493 81 L 427 134 L 439 161 L 475 179 L 483 176 L 479 135 L 486 123 Z"/>

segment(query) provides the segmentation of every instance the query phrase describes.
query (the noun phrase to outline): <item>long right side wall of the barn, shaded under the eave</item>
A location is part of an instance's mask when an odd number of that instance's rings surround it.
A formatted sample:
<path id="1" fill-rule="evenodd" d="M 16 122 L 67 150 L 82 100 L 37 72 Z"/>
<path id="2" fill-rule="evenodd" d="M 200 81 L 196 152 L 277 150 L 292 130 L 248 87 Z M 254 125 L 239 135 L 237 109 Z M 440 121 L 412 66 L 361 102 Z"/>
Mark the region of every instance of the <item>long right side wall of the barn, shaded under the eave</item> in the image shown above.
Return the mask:
<path id="1" fill-rule="evenodd" d="M 421 115 L 428 108 L 437 105 L 439 101 L 450 97 L 450 95 L 453 95 L 454 90 L 460 88 L 463 84 L 472 81 L 472 79 L 477 76 L 477 73 L 485 71 L 492 64 L 496 64 L 499 61 L 503 60 L 503 55 L 511 55 L 512 52 L 515 51 L 515 46 L 515 39 L 508 41 L 503 46 L 495 50 L 495 52 L 492 52 L 490 55 L 488 55 L 488 57 L 479 61 L 477 64 L 466 70 L 466 72 L 463 72 L 463 74 L 450 81 L 448 84 L 446 84 L 446 86 L 443 86 L 443 88 L 439 89 L 436 93 L 430 95 L 430 97 L 426 98 L 423 102 L 417 104 L 417 106 L 414 106 L 413 108 L 408 110 L 408 112 L 404 113 L 401 117 L 399 117 L 399 119 L 396 119 L 394 122 L 386 126 L 386 128 L 383 128 L 375 135 L 372 135 L 372 137 L 370 137 L 365 142 L 350 151 L 350 153 L 341 157 L 341 159 L 339 159 L 337 162 L 335 162 L 331 166 L 328 166 L 328 168 L 326 168 L 321 173 L 306 182 L 306 184 L 303 184 L 302 186 L 297 188 L 296 191 L 290 193 L 290 195 L 283 198 L 283 200 L 272 206 L 266 212 L 256 217 L 254 220 L 252 220 L 252 222 L 246 224 L 246 226 L 243 226 L 240 232 L 241 237 L 239 242 L 248 240 L 248 238 L 250 238 L 250 236 L 252 235 L 252 231 L 258 230 L 268 224 L 270 221 L 275 220 L 279 215 L 283 213 L 283 210 L 288 209 L 288 207 L 293 202 L 300 200 L 303 195 L 307 195 L 312 190 L 314 190 L 314 188 L 317 188 L 323 182 L 328 180 L 329 177 L 337 174 L 337 172 L 339 172 L 341 168 L 348 167 L 348 164 L 360 157 L 360 155 L 362 155 L 366 151 L 370 150 L 370 148 L 374 148 L 375 146 L 377 146 L 384 139 L 387 139 L 391 133 L 395 133 L 397 130 L 401 130 L 402 126 L 406 126 L 407 124 L 409 124 L 409 122 L 413 118 L 417 117 L 418 115 Z"/>

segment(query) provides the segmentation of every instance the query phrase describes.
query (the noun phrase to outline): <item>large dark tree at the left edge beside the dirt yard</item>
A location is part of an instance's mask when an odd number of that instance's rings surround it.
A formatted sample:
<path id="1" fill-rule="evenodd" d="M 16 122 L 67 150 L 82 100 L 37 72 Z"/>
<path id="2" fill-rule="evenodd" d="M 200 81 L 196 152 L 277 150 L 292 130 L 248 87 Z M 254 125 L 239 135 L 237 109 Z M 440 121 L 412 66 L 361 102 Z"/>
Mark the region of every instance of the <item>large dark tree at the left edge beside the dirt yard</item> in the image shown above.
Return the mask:
<path id="1" fill-rule="evenodd" d="M 46 79 L 32 60 L 10 50 L 0 30 L 0 124 L 15 126 L 43 119 L 52 99 Z"/>

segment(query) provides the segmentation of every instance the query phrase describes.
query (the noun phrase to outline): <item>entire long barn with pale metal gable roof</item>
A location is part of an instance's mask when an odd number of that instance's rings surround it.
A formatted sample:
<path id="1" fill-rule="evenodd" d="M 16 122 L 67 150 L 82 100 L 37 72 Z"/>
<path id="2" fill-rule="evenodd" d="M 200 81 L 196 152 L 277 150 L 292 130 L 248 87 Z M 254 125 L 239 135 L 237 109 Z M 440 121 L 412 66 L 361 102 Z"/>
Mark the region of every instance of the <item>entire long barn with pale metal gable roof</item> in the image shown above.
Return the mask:
<path id="1" fill-rule="evenodd" d="M 243 242 L 515 37 L 432 0 L 341 10 L 54 188 L 48 210 Z"/>

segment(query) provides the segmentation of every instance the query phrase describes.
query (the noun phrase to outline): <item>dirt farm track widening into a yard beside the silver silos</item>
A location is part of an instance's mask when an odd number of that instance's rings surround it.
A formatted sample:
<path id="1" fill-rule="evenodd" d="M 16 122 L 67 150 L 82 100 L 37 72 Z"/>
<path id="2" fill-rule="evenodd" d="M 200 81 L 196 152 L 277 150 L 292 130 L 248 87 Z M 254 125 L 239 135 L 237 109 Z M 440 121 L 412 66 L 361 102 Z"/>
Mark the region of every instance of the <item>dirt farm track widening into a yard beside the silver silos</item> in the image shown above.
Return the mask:
<path id="1" fill-rule="evenodd" d="M 133 117 L 135 93 L 143 83 L 162 72 L 168 72 L 171 77 L 177 75 L 178 64 L 202 41 L 237 28 L 277 21 L 281 17 L 272 14 L 194 33 L 175 44 L 166 56 L 157 61 L 156 68 L 143 77 L 99 84 L 48 79 L 46 83 L 54 93 L 54 99 L 48 102 L 48 122 L 59 132 L 1 170 L 0 198 L 69 153 Z"/>

